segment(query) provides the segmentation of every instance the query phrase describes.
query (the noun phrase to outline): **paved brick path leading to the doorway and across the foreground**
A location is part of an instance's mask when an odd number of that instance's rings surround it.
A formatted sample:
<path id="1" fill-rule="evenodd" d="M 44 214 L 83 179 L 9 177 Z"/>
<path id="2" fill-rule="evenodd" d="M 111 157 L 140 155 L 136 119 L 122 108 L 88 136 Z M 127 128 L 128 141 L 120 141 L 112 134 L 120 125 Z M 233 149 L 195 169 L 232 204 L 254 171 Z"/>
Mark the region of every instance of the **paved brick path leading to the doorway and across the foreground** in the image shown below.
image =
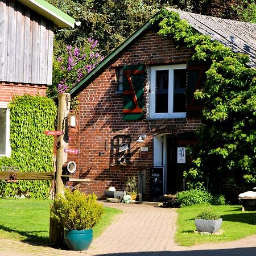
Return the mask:
<path id="1" fill-rule="evenodd" d="M 246 256 L 256 255 L 256 235 L 235 242 L 204 243 L 192 247 L 174 243 L 175 209 L 151 205 L 111 204 L 122 209 L 116 220 L 95 239 L 88 251 L 57 250 L 0 239 L 0 255 L 108 255 L 108 256 Z"/>

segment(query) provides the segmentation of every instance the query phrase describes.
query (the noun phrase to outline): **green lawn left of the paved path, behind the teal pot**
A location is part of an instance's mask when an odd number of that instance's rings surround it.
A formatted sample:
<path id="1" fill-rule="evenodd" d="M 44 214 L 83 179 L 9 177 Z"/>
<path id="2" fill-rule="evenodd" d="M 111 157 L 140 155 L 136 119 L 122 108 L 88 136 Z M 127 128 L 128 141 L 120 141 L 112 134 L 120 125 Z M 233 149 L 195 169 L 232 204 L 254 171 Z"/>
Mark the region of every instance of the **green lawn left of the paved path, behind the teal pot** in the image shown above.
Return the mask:
<path id="1" fill-rule="evenodd" d="M 51 200 L 0 199 L 0 237 L 47 245 Z M 101 221 L 94 226 L 98 237 L 121 210 L 104 207 Z"/>

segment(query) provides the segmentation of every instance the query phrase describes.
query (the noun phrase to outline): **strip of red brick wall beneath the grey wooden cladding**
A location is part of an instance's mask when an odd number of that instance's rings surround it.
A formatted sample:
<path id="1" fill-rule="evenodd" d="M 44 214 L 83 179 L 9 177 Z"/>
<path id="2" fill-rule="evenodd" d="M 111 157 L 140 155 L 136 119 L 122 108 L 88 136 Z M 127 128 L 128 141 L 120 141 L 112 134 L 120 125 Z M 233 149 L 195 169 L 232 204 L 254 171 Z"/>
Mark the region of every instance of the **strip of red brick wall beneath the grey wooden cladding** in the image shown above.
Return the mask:
<path id="1" fill-rule="evenodd" d="M 0 81 L 0 101 L 10 102 L 14 95 L 22 96 L 23 94 L 46 96 L 47 86 L 20 84 Z"/>

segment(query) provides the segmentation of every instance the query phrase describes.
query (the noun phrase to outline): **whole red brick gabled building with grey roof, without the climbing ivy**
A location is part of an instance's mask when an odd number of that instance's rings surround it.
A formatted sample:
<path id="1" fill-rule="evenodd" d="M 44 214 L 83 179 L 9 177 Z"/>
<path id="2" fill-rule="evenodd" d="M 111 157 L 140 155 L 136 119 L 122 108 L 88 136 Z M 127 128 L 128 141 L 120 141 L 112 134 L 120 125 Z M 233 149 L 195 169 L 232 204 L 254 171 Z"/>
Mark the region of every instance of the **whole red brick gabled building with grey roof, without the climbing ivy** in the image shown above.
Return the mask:
<path id="1" fill-rule="evenodd" d="M 256 24 L 177 12 L 233 51 L 250 51 L 255 66 L 253 34 L 238 38 L 237 31 L 255 31 Z M 104 197 L 134 175 L 144 200 L 184 189 L 185 147 L 196 143 L 203 108 L 193 92 L 203 86 L 206 67 L 156 32 L 151 21 L 144 24 L 71 90 L 80 105 L 70 147 L 79 149 L 72 155 L 76 177 L 90 179 L 81 183 L 86 192 Z"/>

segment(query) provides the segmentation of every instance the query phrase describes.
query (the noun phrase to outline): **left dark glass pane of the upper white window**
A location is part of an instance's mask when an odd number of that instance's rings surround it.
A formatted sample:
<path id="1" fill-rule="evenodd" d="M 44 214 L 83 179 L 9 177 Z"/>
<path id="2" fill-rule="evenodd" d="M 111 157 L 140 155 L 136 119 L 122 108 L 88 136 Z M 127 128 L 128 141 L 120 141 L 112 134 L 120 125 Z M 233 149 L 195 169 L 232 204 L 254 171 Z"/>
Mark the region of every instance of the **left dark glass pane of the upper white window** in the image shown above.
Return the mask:
<path id="1" fill-rule="evenodd" d="M 169 71 L 156 71 L 155 113 L 168 113 Z"/>

